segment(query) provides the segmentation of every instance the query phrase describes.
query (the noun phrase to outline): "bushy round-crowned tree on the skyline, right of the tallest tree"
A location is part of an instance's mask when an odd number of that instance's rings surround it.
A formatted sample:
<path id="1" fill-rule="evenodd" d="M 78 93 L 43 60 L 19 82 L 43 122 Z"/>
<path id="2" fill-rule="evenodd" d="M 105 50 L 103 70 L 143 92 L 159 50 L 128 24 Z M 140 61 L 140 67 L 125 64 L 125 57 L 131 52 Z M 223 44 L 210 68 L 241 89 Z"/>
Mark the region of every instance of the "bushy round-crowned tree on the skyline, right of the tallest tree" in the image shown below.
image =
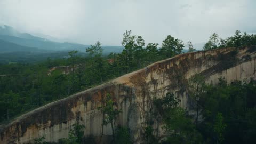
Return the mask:
<path id="1" fill-rule="evenodd" d="M 174 55 L 180 54 L 183 50 L 184 44 L 179 39 L 174 39 L 171 35 L 168 35 L 160 48 L 161 53 L 165 58 L 173 57 Z"/>

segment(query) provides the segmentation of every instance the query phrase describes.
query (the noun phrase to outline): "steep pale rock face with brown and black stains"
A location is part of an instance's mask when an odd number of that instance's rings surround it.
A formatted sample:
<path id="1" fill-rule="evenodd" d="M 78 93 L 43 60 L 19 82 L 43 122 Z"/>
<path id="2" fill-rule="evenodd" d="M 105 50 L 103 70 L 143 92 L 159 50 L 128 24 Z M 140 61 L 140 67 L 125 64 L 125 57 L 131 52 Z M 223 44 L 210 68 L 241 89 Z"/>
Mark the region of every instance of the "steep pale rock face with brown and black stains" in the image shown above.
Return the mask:
<path id="1" fill-rule="evenodd" d="M 220 76 L 228 82 L 256 79 L 256 46 L 199 51 L 177 55 L 153 63 L 148 69 L 126 74 L 108 83 L 68 98 L 49 103 L 0 126 L 0 143 L 29 143 L 44 136 L 48 142 L 66 138 L 72 124 L 85 125 L 84 135 L 98 139 L 111 135 L 111 126 L 101 126 L 102 113 L 97 110 L 102 97 L 110 93 L 118 109 L 122 108 L 116 125 L 129 127 L 132 138 L 139 143 L 150 117 L 152 100 L 171 91 L 179 95 L 180 106 L 193 114 L 193 101 L 187 92 L 187 79 L 196 73 L 208 83 L 217 83 Z M 161 137 L 161 122 L 153 119 L 154 134 Z M 98 141 L 100 142 L 100 141 Z"/>

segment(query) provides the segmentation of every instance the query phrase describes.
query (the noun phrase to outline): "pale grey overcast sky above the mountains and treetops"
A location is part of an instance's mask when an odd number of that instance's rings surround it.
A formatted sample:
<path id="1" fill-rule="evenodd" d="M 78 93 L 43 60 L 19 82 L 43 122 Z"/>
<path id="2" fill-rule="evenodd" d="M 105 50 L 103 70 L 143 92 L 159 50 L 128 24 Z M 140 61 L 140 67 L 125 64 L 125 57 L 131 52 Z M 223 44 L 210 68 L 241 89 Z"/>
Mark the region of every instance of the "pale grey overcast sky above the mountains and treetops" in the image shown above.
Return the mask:
<path id="1" fill-rule="evenodd" d="M 146 43 L 167 35 L 202 43 L 240 29 L 256 32 L 255 0 L 0 0 L 0 24 L 69 42 L 121 45 L 132 30 Z"/>

